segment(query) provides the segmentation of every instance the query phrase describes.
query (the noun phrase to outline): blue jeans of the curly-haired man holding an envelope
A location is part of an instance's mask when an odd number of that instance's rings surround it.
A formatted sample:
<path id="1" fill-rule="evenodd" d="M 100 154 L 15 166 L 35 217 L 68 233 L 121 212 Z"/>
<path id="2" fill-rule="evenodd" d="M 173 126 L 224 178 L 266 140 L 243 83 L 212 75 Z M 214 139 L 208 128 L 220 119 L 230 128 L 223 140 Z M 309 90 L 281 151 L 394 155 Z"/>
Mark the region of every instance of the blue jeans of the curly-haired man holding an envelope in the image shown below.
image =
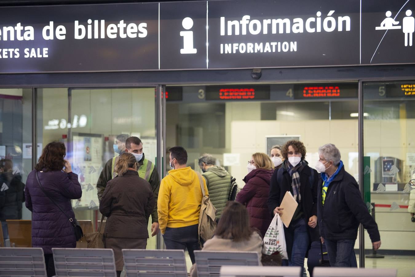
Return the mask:
<path id="1" fill-rule="evenodd" d="M 293 250 L 291 250 L 291 259 L 288 259 L 288 265 L 304 267 L 305 253 L 309 243 L 307 224 L 303 218 L 299 218 L 290 225 L 294 231 L 288 233 L 293 236 Z"/>

